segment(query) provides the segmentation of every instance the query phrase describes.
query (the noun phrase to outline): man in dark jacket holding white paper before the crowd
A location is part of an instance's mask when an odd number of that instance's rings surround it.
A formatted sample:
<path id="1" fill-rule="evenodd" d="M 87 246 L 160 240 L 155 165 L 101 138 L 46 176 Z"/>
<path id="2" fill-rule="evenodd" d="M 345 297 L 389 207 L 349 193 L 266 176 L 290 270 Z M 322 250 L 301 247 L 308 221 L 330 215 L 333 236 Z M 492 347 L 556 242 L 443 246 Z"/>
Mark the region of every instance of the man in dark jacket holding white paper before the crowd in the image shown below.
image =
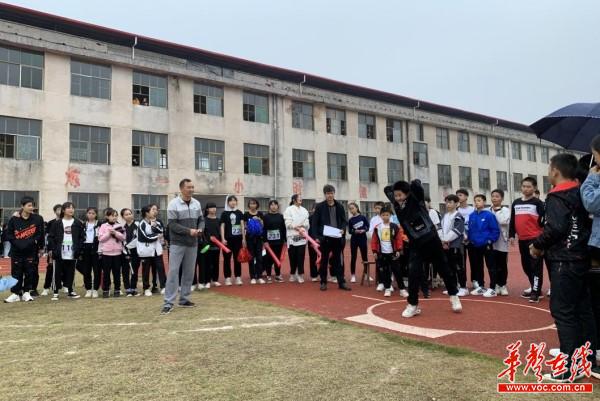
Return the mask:
<path id="1" fill-rule="evenodd" d="M 327 290 L 327 266 L 331 254 L 331 265 L 333 274 L 337 277 L 340 290 L 350 291 L 351 288 L 346 285 L 344 273 L 342 270 L 342 238 L 346 234 L 348 219 L 346 211 L 341 203 L 335 200 L 335 188 L 333 185 L 323 187 L 325 201 L 319 203 L 315 210 L 315 226 L 317 241 L 321 244 L 321 266 L 319 274 L 321 276 L 321 291 Z M 325 226 L 328 226 L 327 228 Z M 326 236 L 325 230 L 338 229 L 339 237 Z"/>

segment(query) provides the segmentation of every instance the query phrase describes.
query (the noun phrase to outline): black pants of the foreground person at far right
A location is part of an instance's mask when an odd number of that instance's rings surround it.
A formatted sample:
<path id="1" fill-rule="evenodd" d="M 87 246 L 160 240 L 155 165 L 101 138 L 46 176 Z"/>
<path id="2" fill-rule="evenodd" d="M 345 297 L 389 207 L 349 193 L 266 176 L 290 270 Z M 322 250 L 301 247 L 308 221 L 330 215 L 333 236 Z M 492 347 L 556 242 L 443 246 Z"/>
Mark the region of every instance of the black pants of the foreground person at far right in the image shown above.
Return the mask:
<path id="1" fill-rule="evenodd" d="M 550 313 L 556 324 L 560 351 L 569 355 L 589 341 L 594 353 L 588 357 L 596 364 L 596 324 L 592 312 L 588 279 L 589 263 L 550 261 L 552 297 Z"/>

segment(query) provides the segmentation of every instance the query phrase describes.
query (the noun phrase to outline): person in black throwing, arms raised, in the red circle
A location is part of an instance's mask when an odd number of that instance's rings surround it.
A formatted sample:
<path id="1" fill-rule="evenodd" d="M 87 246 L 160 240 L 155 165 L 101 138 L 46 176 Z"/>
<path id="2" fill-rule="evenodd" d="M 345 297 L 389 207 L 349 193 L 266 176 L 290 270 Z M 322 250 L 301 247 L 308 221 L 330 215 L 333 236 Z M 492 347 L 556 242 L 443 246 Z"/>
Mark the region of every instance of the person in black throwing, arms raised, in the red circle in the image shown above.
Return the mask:
<path id="1" fill-rule="evenodd" d="M 448 267 L 448 260 L 437 233 L 437 228 L 429 217 L 425 206 L 425 192 L 419 180 L 412 183 L 398 181 L 384 189 L 385 195 L 394 205 L 396 216 L 410 243 L 408 266 L 408 305 L 402 316 L 409 318 L 421 313 L 419 285 L 423 275 L 423 261 L 430 260 L 442 276 L 454 312 L 460 312 L 462 305 L 458 296 L 456 280 Z"/>

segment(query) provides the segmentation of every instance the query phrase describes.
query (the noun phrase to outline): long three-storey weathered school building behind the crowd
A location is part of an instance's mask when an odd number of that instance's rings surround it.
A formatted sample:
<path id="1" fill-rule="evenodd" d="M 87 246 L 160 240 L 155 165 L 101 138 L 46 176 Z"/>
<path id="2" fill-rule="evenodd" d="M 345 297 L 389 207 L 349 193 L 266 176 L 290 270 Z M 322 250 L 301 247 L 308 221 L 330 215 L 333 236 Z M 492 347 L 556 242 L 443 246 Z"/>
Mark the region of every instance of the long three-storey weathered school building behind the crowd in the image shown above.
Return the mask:
<path id="1" fill-rule="evenodd" d="M 548 191 L 558 150 L 523 124 L 0 4 L 2 222 L 23 194 L 45 218 L 65 200 L 164 210 L 184 177 L 219 206 L 310 207 L 331 183 L 368 214 L 415 178 L 434 205 L 459 187 L 508 203 L 528 175 Z"/>

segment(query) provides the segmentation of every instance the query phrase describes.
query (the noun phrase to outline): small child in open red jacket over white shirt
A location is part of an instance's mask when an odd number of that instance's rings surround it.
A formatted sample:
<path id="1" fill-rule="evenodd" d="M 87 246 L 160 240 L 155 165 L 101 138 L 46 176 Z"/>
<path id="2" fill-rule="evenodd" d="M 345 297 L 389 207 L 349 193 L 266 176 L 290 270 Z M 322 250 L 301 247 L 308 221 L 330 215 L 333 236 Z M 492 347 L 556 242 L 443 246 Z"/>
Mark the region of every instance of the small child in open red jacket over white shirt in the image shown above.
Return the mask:
<path id="1" fill-rule="evenodd" d="M 398 265 L 398 258 L 403 247 L 402 228 L 399 225 L 392 223 L 392 208 L 385 205 L 379 214 L 382 222 L 373 229 L 371 237 L 371 249 L 377 260 L 377 269 L 379 270 L 379 278 L 385 287 L 384 295 L 389 297 L 392 295 L 392 270 L 396 277 L 401 277 Z M 406 290 L 405 290 L 406 291 Z"/>

